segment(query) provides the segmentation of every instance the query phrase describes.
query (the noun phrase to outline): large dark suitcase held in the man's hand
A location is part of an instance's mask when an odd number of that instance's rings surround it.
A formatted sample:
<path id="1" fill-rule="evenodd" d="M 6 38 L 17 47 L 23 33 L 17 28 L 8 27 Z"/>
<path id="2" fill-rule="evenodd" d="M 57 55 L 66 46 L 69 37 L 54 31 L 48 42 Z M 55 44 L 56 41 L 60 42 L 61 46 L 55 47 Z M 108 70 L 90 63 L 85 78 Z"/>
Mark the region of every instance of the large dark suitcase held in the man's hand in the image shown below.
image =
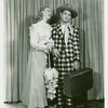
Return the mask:
<path id="1" fill-rule="evenodd" d="M 78 96 L 93 87 L 93 70 L 84 68 L 76 70 L 64 77 L 64 95 L 68 97 Z"/>

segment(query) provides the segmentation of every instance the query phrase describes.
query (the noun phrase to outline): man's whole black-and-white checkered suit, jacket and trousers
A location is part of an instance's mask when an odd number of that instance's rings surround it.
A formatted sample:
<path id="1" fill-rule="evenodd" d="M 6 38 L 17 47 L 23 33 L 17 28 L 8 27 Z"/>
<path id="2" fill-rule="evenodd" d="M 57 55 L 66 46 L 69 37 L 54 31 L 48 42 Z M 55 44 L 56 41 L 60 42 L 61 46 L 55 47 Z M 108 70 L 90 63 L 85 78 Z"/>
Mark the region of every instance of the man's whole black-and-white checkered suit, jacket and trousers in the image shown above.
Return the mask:
<path id="1" fill-rule="evenodd" d="M 65 44 L 65 36 L 62 31 L 60 24 L 54 24 L 52 30 L 52 39 L 54 40 L 54 48 L 58 50 L 60 56 L 58 58 L 53 57 L 54 67 L 59 72 L 58 79 L 58 89 L 57 89 L 57 99 L 58 105 L 62 105 L 64 102 L 63 95 L 63 79 L 64 75 L 73 70 L 73 62 L 80 60 L 80 43 L 79 43 L 79 29 L 76 26 L 71 26 L 73 32 L 68 27 L 69 38 L 67 45 Z M 71 99 L 65 98 L 68 105 L 71 105 Z M 66 102 L 65 100 L 65 102 Z"/>

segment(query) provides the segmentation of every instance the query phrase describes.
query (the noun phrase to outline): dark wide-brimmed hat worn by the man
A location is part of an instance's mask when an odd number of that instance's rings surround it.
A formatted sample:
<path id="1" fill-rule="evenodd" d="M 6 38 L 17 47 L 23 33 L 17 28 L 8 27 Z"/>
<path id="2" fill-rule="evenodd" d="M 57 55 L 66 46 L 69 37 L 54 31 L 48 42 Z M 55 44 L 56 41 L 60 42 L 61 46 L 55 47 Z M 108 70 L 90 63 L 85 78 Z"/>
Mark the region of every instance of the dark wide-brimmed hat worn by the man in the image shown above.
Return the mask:
<path id="1" fill-rule="evenodd" d="M 63 11 L 65 11 L 65 10 L 71 12 L 71 17 L 72 17 L 72 18 L 75 18 L 75 17 L 78 16 L 77 11 L 73 10 L 73 8 L 72 8 L 71 5 L 69 5 L 69 4 L 64 4 L 64 5 L 58 6 L 58 8 L 56 9 L 56 14 L 59 15 L 59 13 L 63 12 Z"/>

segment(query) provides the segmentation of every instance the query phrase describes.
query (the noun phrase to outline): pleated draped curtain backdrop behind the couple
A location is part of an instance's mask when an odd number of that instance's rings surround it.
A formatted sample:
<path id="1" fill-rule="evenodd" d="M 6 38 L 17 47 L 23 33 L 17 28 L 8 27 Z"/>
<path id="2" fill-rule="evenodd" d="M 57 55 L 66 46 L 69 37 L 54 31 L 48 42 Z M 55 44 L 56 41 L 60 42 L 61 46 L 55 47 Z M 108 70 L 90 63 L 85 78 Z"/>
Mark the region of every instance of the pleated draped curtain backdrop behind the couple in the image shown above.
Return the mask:
<path id="1" fill-rule="evenodd" d="M 81 67 L 93 68 L 93 89 L 87 92 L 87 99 L 104 98 L 103 0 L 4 0 L 5 102 L 21 99 L 29 51 L 28 27 L 40 8 L 49 5 L 55 12 L 67 3 L 78 11 L 72 23 L 80 28 Z"/>

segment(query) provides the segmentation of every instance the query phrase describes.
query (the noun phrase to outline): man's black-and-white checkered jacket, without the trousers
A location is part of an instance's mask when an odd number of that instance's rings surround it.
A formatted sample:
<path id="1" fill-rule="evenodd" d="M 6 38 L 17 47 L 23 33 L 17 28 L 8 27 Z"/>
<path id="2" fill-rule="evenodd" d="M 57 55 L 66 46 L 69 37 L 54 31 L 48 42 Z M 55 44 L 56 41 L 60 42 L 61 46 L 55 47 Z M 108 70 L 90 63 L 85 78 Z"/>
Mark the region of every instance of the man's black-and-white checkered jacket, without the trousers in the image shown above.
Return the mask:
<path id="1" fill-rule="evenodd" d="M 54 40 L 54 48 L 60 53 L 60 56 L 54 60 L 54 66 L 59 71 L 70 71 L 73 70 L 73 62 L 80 60 L 80 39 L 79 29 L 76 26 L 71 26 L 69 30 L 69 38 L 67 45 L 65 44 L 64 33 L 62 31 L 60 24 L 54 24 L 52 30 L 52 39 Z"/>

